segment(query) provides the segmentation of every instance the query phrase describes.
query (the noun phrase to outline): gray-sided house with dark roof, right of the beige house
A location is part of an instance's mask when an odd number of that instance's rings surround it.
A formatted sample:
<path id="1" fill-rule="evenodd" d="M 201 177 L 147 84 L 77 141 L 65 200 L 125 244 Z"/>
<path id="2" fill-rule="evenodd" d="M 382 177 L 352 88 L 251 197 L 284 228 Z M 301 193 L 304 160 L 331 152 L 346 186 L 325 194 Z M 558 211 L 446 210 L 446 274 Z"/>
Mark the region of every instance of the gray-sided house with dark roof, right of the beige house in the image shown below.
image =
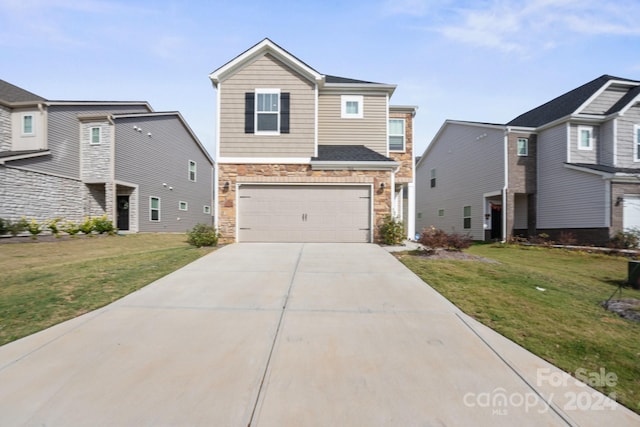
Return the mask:
<path id="1" fill-rule="evenodd" d="M 416 177 L 418 231 L 605 243 L 640 227 L 640 82 L 603 75 L 507 124 L 447 120 Z"/>

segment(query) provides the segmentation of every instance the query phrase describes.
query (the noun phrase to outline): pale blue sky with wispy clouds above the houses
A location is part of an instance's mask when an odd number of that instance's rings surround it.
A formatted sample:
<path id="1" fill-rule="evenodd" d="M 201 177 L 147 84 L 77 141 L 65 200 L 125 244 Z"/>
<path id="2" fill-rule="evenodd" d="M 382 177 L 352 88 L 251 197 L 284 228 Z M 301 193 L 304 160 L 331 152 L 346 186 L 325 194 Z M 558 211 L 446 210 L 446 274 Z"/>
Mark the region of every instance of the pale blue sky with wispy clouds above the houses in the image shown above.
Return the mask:
<path id="1" fill-rule="evenodd" d="M 637 0 L 0 0 L 0 78 L 50 100 L 180 111 L 215 153 L 208 74 L 265 37 L 397 84 L 417 154 L 446 119 L 505 123 L 602 74 L 640 80 Z"/>

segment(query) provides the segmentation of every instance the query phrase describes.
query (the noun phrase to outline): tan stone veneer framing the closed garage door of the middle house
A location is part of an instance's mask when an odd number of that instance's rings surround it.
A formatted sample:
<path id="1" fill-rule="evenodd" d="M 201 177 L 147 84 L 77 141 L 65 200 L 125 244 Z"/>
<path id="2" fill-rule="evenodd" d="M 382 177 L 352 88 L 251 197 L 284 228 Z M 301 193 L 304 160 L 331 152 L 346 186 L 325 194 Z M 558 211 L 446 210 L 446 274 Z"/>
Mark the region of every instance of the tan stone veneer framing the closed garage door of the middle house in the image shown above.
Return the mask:
<path id="1" fill-rule="evenodd" d="M 373 184 L 375 241 L 379 241 L 379 226 L 385 215 L 391 213 L 389 171 L 312 170 L 304 164 L 219 164 L 218 169 L 218 230 L 222 243 L 236 240 L 236 183 Z M 226 182 L 229 182 L 228 190 L 224 188 Z M 381 183 L 385 184 L 384 190 L 380 190 Z"/>

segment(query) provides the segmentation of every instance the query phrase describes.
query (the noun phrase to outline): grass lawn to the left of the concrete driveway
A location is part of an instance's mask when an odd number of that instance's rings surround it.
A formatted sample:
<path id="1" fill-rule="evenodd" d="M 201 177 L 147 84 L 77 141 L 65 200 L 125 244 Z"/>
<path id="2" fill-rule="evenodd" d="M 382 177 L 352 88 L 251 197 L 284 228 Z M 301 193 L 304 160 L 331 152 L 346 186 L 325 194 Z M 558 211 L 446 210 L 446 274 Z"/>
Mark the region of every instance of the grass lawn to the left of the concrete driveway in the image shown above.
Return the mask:
<path id="1" fill-rule="evenodd" d="M 211 252 L 184 234 L 0 244 L 0 345 L 107 305 Z"/>

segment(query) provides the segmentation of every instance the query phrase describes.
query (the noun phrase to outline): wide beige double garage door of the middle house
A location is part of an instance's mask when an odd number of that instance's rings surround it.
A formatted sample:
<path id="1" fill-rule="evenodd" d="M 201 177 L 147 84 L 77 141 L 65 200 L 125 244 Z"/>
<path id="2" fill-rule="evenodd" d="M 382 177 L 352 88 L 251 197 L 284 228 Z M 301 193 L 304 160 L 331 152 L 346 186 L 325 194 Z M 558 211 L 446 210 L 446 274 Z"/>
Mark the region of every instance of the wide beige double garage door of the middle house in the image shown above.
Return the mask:
<path id="1" fill-rule="evenodd" d="M 371 187 L 242 185 L 240 242 L 369 242 Z"/>

